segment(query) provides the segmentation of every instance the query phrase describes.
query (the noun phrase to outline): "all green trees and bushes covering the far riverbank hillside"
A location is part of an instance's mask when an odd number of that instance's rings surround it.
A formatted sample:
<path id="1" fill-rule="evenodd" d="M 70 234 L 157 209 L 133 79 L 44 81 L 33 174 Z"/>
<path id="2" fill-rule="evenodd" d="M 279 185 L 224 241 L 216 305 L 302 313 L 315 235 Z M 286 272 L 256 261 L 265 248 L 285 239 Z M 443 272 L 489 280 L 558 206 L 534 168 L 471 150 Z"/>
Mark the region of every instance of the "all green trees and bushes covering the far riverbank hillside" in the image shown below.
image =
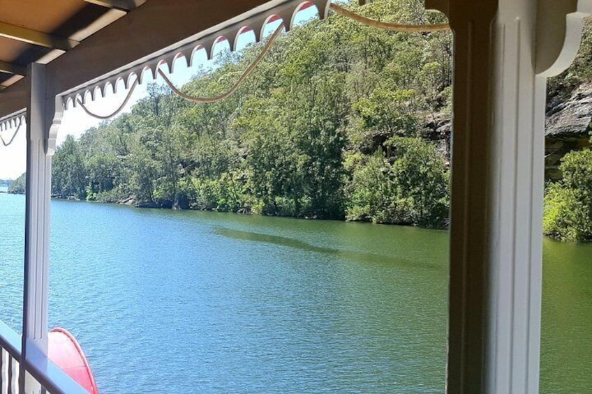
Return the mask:
<path id="1" fill-rule="evenodd" d="M 347 6 L 385 22 L 445 22 L 426 13 L 422 0 Z M 225 91 L 261 46 L 221 52 L 216 68 L 198 70 L 182 91 Z M 574 66 L 549 81 L 549 101 L 592 82 L 591 61 L 586 34 Z M 392 33 L 332 15 L 280 36 L 246 82 L 219 103 L 188 103 L 156 84 L 147 91 L 131 113 L 80 139 L 66 137 L 53 158 L 54 197 L 448 225 L 450 32 Z M 585 152 L 565 156 L 563 179 L 547 185 L 549 236 L 592 240 L 592 203 L 586 203 L 592 201 L 592 180 L 585 176 L 592 159 Z M 24 190 L 21 178 L 11 190 Z"/>

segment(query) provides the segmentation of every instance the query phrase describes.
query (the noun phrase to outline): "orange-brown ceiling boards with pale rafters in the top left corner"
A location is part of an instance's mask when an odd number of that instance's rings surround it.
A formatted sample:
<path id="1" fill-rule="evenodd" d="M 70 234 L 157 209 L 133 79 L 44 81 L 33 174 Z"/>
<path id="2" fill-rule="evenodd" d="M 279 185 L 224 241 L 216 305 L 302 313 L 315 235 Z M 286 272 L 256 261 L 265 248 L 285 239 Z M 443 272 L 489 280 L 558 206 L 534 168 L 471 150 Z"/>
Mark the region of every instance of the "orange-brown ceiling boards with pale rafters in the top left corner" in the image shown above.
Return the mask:
<path id="1" fill-rule="evenodd" d="M 0 0 L 0 90 L 146 0 Z"/>

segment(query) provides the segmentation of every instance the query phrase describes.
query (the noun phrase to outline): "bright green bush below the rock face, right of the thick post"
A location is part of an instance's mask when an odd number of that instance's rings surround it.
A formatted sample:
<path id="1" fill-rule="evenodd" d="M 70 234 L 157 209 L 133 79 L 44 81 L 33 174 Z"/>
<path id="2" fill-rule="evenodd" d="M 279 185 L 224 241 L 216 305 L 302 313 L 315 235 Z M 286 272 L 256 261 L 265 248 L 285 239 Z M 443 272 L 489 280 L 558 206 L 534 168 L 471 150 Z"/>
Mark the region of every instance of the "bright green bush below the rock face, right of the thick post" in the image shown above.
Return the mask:
<path id="1" fill-rule="evenodd" d="M 561 160 L 563 180 L 547 185 L 543 232 L 566 241 L 592 241 L 592 150 Z"/>

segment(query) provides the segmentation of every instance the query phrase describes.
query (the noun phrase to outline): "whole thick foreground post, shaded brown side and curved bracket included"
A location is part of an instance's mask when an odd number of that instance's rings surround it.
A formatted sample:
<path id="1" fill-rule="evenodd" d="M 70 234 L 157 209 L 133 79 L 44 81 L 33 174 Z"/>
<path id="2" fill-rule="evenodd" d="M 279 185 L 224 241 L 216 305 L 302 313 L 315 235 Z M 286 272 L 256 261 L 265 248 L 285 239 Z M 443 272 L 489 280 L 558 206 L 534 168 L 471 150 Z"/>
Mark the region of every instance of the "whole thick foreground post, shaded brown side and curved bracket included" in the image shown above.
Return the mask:
<path id="1" fill-rule="evenodd" d="M 589 3 L 427 1 L 454 31 L 448 393 L 538 393 L 546 77 Z"/>

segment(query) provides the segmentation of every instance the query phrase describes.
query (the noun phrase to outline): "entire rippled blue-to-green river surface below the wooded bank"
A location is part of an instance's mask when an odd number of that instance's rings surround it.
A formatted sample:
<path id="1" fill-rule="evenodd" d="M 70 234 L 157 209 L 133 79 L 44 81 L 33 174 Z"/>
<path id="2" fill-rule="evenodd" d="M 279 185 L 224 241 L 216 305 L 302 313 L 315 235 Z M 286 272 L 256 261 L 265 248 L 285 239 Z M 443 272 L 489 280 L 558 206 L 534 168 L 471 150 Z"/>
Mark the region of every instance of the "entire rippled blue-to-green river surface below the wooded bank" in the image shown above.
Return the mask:
<path id="1" fill-rule="evenodd" d="M 0 194 L 20 331 L 24 197 Z M 447 232 L 52 202 L 50 328 L 101 394 L 443 393 Z M 542 393 L 592 386 L 592 245 L 545 240 Z"/>

